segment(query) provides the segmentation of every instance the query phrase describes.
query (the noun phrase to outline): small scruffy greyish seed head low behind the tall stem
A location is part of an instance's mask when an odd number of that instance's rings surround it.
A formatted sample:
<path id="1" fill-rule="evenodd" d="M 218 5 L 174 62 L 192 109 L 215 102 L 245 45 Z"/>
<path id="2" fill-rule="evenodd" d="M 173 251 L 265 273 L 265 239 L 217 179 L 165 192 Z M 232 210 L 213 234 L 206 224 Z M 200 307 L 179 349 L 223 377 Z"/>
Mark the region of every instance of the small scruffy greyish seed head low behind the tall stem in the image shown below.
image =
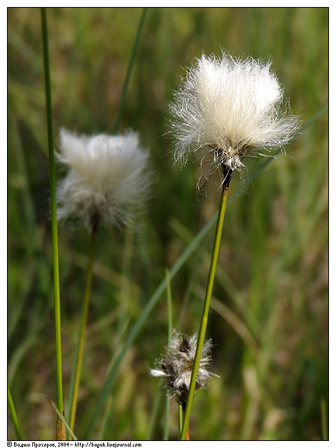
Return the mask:
<path id="1" fill-rule="evenodd" d="M 197 334 L 183 335 L 173 330 L 165 356 L 157 361 L 157 368 L 151 369 L 153 377 L 163 377 L 169 395 L 174 396 L 182 406 L 186 405 L 191 374 L 195 360 Z M 197 373 L 196 390 L 209 384 L 211 374 L 207 368 L 211 362 L 211 339 L 204 342 L 200 367 Z"/>

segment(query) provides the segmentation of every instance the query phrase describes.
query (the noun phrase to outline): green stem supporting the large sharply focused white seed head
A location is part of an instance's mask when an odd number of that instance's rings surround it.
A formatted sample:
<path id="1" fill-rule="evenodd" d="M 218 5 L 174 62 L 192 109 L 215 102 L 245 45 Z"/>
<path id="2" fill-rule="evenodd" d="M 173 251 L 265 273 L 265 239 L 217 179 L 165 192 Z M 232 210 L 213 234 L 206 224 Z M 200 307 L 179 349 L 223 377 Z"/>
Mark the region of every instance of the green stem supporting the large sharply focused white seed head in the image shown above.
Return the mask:
<path id="1" fill-rule="evenodd" d="M 189 424 L 189 419 L 190 419 L 191 405 L 193 403 L 193 397 L 194 397 L 196 381 L 197 381 L 198 367 L 200 367 L 200 360 L 201 360 L 201 356 L 202 356 L 202 348 L 203 348 L 203 344 L 204 344 L 205 332 L 207 330 L 207 321 L 208 321 L 209 307 L 210 307 L 210 301 L 211 301 L 211 294 L 212 294 L 212 289 L 214 288 L 214 279 L 215 279 L 215 274 L 216 274 L 218 252 L 219 252 L 219 247 L 221 245 L 221 235 L 222 235 L 222 230 L 223 230 L 226 202 L 228 200 L 228 190 L 229 190 L 228 186 L 223 188 L 223 193 L 221 196 L 221 205 L 220 205 L 219 213 L 218 213 L 214 248 L 213 248 L 212 256 L 211 256 L 210 272 L 209 272 L 209 278 L 208 278 L 208 284 L 207 284 L 207 293 L 205 295 L 200 331 L 198 333 L 195 361 L 194 361 L 194 366 L 193 366 L 193 372 L 191 374 L 191 379 L 190 379 L 188 400 L 187 400 L 187 404 L 186 404 L 186 410 L 184 412 L 184 421 L 183 421 L 183 426 L 182 426 L 182 431 L 181 431 L 181 440 L 186 440 L 188 424 Z"/>

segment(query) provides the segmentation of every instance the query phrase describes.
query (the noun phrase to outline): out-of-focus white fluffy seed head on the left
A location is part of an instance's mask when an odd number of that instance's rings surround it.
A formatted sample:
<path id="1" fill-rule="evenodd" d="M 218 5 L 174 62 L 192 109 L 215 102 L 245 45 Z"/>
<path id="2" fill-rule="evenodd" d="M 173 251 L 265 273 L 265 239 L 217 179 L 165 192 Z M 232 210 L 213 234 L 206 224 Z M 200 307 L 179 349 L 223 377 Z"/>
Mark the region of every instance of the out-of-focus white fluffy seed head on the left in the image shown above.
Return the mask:
<path id="1" fill-rule="evenodd" d="M 77 135 L 62 129 L 57 159 L 69 172 L 57 188 L 57 218 L 90 226 L 132 223 L 151 186 L 148 151 L 135 132 L 125 135 Z"/>

